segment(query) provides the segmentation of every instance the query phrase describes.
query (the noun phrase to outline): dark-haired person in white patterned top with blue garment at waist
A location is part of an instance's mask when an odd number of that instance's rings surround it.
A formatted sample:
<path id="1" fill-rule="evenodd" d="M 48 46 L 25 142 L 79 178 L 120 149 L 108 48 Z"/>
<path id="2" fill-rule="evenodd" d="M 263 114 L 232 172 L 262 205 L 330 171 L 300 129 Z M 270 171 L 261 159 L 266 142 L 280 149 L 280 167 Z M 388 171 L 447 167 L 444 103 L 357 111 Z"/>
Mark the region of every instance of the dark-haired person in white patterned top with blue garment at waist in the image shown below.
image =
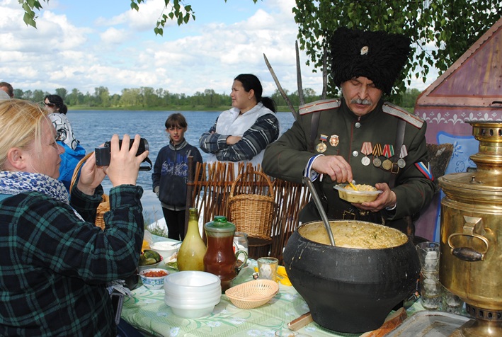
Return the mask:
<path id="1" fill-rule="evenodd" d="M 44 98 L 44 105 L 56 129 L 57 144 L 64 148 L 64 153 L 61 154 L 61 166 L 59 166 L 59 181 L 62 181 L 69 190 L 75 166 L 86 155 L 86 149 L 81 147 L 73 134 L 72 124 L 67 118 L 68 108 L 63 98 L 59 95 L 47 95 Z"/>

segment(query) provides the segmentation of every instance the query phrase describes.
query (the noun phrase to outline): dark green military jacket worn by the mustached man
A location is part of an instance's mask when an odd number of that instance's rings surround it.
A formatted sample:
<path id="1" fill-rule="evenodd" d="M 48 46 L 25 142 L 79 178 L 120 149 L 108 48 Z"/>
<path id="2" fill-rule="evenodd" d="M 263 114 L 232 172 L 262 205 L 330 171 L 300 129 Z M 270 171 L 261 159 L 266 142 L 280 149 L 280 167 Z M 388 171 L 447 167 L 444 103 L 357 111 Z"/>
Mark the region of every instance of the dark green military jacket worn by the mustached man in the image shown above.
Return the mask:
<path id="1" fill-rule="evenodd" d="M 314 148 L 309 148 L 309 142 L 315 106 L 312 109 L 306 108 L 303 112 L 300 110 L 300 116 L 290 130 L 267 147 L 263 158 L 263 170 L 266 173 L 275 178 L 302 183 L 304 169 L 312 156 L 338 155 L 343 156 L 350 164 L 353 178 L 358 184 L 374 186 L 376 183 L 389 183 L 392 175 L 397 175 L 392 188 L 396 193 L 397 207 L 392 211 L 380 211 L 383 219 L 392 220 L 413 215 L 428 205 L 435 192 L 435 182 L 427 169 L 426 122 L 383 101 L 380 101 L 375 110 L 360 117 L 350 111 L 343 99 L 332 100 L 327 105 L 331 105 L 329 110 L 317 108 L 321 113 L 314 137 Z M 394 145 L 399 120 L 406 121 L 404 146 L 407 154 L 402 158 L 406 165 L 403 168 L 394 165 L 393 171 L 397 173 L 382 169 L 382 165 L 377 167 L 373 164 L 375 157 L 382 162 L 387 159 L 378 151 L 376 155 L 367 154 L 370 164 L 364 165 L 363 158 L 366 155 L 363 152 L 366 151 L 363 144 L 366 144 L 367 148 L 370 143 L 371 149 L 375 146 L 378 149 L 380 144 L 382 151 L 386 148 L 385 145 Z M 325 147 L 319 146 L 320 143 L 324 143 Z M 323 148 L 324 152 L 320 152 Z M 394 152 L 395 162 L 399 159 L 400 149 L 394 149 Z M 367 163 L 367 159 L 364 162 Z M 328 210 L 354 209 L 349 202 L 338 198 L 338 190 L 333 188 L 336 181 L 333 182 L 329 176 L 324 175 L 322 181 L 318 179 L 314 185 L 321 197 L 326 196 Z"/>

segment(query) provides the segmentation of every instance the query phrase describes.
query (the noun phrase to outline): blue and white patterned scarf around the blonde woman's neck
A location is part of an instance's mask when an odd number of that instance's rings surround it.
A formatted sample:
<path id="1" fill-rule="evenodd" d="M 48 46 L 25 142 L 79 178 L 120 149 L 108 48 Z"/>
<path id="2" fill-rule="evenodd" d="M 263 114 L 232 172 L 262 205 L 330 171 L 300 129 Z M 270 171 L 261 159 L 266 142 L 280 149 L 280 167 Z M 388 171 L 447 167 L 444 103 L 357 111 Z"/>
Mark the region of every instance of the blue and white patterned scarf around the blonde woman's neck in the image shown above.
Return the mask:
<path id="1" fill-rule="evenodd" d="M 0 171 L 0 193 L 17 195 L 39 192 L 69 204 L 67 189 L 61 181 L 41 173 Z"/>

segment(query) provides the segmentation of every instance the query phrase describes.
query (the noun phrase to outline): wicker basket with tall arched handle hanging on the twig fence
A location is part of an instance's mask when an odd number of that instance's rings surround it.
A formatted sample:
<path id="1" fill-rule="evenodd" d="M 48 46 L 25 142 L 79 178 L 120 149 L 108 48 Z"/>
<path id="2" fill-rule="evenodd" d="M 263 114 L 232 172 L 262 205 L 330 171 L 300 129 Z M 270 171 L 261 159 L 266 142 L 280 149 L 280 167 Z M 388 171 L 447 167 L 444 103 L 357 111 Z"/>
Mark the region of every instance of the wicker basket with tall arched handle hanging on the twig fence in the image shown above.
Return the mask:
<path id="1" fill-rule="evenodd" d="M 236 185 L 246 174 L 257 174 L 264 178 L 268 184 L 267 191 L 269 195 L 234 195 Z M 275 207 L 273 185 L 266 174 L 259 171 L 242 173 L 232 183 L 229 195 L 229 220 L 235 224 L 237 232 L 244 232 L 248 236 L 261 239 L 270 239 Z"/>

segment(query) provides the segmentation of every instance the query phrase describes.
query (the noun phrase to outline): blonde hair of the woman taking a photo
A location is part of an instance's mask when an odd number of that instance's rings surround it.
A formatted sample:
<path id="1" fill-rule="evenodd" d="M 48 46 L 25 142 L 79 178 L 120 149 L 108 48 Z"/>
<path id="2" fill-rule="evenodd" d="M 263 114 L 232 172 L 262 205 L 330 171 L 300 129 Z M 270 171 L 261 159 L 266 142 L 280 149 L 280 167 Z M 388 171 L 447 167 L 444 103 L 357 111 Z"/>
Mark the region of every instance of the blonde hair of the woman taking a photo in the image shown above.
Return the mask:
<path id="1" fill-rule="evenodd" d="M 42 121 L 48 113 L 36 103 L 19 99 L 0 101 L 0 170 L 5 169 L 9 149 L 41 146 Z"/>

